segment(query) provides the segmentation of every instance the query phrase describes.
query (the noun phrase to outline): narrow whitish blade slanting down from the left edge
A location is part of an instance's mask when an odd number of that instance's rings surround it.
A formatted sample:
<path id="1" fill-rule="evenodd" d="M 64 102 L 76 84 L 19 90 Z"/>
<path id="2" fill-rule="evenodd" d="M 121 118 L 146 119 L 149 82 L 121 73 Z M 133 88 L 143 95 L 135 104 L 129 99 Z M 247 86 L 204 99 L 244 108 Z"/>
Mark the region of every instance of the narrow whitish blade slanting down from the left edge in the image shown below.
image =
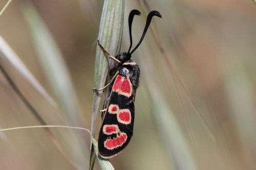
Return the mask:
<path id="1" fill-rule="evenodd" d="M 20 74 L 26 78 L 33 87 L 42 94 L 54 107 L 57 107 L 57 103 L 51 98 L 47 91 L 40 85 L 36 78 L 32 75 L 26 65 L 19 59 L 17 54 L 7 44 L 2 36 L 0 36 L 0 53 L 16 68 Z"/>

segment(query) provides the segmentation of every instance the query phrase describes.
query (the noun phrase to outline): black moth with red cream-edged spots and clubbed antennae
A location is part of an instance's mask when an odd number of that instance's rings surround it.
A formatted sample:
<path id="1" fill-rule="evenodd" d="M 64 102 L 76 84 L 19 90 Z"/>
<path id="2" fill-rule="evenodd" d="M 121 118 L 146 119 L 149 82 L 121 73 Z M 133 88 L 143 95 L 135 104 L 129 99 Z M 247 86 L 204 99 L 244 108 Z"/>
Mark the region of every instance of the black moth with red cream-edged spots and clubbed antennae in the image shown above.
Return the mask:
<path id="1" fill-rule="evenodd" d="M 109 96 L 104 106 L 102 115 L 102 125 L 98 138 L 98 151 L 101 157 L 111 158 L 120 153 L 130 142 L 133 136 L 134 125 L 134 101 L 136 89 L 139 86 L 140 69 L 139 66 L 131 60 L 133 52 L 141 44 L 153 16 L 162 17 L 158 11 L 151 11 L 147 15 L 143 34 L 138 44 L 132 48 L 132 22 L 135 15 L 140 15 L 138 10 L 132 10 L 129 14 L 129 33 L 130 47 L 128 52 L 111 56 L 98 40 L 99 46 L 109 58 L 116 61 L 113 69 L 110 70 L 110 83 L 103 88 L 94 90 L 103 90 L 110 86 Z"/>

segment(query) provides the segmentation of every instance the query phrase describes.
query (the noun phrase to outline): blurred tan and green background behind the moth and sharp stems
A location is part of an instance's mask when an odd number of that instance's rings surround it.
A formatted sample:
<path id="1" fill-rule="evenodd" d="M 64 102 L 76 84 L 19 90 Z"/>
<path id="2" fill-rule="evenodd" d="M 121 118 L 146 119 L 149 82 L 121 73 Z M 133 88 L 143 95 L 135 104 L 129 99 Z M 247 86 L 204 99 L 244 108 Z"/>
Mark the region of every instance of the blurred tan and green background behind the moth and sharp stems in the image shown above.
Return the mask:
<path id="1" fill-rule="evenodd" d="M 0 0 L 1 9 L 6 3 Z M 1 65 L 47 125 L 91 127 L 93 44 L 102 6 L 103 1 L 93 0 L 13 1 L 0 16 L 0 35 L 57 107 L 2 55 Z M 141 68 L 134 136 L 110 159 L 115 169 L 256 169 L 255 4 L 133 0 L 124 6 L 121 51 L 129 48 L 132 9 L 142 13 L 134 19 L 134 43 L 149 11 L 161 12 L 163 19 L 153 18 L 133 54 Z M 1 128 L 41 125 L 3 74 L 0 96 Z M 96 134 L 99 126 L 100 116 Z M 44 129 L 1 132 L 0 169 L 89 167 L 88 132 L 55 128 L 51 133 L 55 144 Z"/>

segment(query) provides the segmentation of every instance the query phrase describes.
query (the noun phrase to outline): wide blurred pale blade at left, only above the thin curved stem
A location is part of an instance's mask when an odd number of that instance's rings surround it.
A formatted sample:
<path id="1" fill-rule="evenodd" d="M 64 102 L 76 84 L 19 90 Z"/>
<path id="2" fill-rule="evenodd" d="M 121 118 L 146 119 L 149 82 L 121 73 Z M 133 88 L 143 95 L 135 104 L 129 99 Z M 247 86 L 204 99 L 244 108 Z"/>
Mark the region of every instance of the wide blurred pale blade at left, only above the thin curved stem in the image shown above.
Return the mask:
<path id="1" fill-rule="evenodd" d="M 68 114 L 70 122 L 80 120 L 77 96 L 70 78 L 69 70 L 50 31 L 32 6 L 23 6 L 23 14 L 28 22 L 42 69 L 56 94 L 62 110 Z"/>

